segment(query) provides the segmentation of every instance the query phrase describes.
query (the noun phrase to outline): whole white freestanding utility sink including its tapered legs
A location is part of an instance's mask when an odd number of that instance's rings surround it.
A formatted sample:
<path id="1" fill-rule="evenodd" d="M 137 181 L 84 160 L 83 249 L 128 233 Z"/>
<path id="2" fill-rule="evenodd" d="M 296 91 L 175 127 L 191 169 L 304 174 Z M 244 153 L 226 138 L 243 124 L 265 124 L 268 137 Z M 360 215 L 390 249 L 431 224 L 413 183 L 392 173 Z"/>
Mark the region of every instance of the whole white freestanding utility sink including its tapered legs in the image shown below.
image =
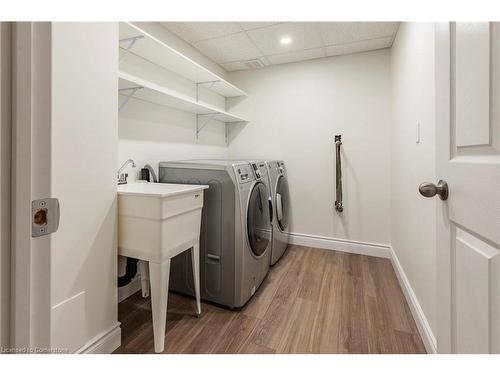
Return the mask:
<path id="1" fill-rule="evenodd" d="M 140 260 L 143 296 L 149 294 L 155 351 L 165 346 L 170 259 L 191 251 L 196 312 L 200 303 L 200 226 L 207 185 L 118 185 L 118 254 Z"/>

